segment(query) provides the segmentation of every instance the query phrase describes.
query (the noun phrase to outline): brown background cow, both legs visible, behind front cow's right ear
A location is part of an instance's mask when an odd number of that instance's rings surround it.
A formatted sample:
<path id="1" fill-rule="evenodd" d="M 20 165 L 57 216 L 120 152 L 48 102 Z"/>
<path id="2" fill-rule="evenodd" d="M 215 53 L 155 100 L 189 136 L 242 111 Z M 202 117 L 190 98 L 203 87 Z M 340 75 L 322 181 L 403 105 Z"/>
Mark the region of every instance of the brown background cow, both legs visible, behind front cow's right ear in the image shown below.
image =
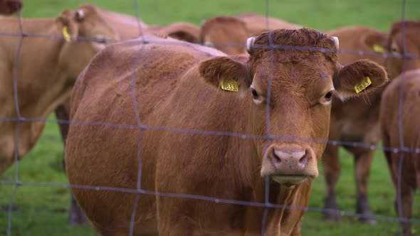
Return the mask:
<path id="1" fill-rule="evenodd" d="M 384 48 L 388 34 L 362 26 L 338 28 L 326 32 L 330 36 L 340 38 L 338 60 L 342 65 L 349 65 L 356 60 L 367 58 L 379 65 L 385 65 L 385 58 L 381 55 L 359 55 L 357 51 L 374 53 L 377 47 Z M 346 52 L 347 50 L 347 52 Z M 353 50 L 348 52 L 348 50 Z M 390 77 L 392 75 L 389 75 Z M 331 141 L 363 142 L 367 145 L 376 145 L 379 141 L 379 102 L 382 88 L 355 99 L 346 100 L 334 98 L 331 108 L 331 123 L 329 138 Z M 322 166 L 327 183 L 324 218 L 326 220 L 340 220 L 335 188 L 340 177 L 339 150 L 340 145 L 327 144 L 322 155 Z M 367 198 L 367 181 L 372 163 L 374 150 L 364 147 L 343 146 L 355 156 L 355 181 L 357 187 L 356 212 L 364 216 L 359 218 L 362 222 L 374 223 L 372 211 Z"/>

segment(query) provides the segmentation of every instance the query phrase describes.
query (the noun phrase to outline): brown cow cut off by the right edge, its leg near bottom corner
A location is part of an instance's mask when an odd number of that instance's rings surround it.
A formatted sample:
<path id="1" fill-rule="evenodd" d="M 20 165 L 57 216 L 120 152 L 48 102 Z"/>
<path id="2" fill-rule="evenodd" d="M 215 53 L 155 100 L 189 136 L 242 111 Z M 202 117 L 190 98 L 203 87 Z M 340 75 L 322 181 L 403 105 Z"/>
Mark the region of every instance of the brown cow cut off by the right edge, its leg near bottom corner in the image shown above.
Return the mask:
<path id="1" fill-rule="evenodd" d="M 401 147 L 399 137 L 399 102 L 400 89 L 402 93 L 402 116 L 401 131 L 404 135 L 404 147 L 411 149 L 409 152 L 401 153 L 384 151 L 387 158 L 389 172 L 395 187 L 395 210 L 399 215 L 399 203 L 397 200 L 397 186 L 401 183 L 401 218 L 411 218 L 413 207 L 413 195 L 416 189 L 420 189 L 420 70 L 409 70 L 389 83 L 384 90 L 381 102 L 380 123 L 382 129 L 382 143 L 384 147 L 399 149 Z M 404 155 L 404 157 L 401 157 Z M 403 159 L 402 162 L 401 159 Z M 402 164 L 401 176 L 399 176 L 399 165 Z M 411 235 L 410 223 L 402 222 L 404 235 Z"/>

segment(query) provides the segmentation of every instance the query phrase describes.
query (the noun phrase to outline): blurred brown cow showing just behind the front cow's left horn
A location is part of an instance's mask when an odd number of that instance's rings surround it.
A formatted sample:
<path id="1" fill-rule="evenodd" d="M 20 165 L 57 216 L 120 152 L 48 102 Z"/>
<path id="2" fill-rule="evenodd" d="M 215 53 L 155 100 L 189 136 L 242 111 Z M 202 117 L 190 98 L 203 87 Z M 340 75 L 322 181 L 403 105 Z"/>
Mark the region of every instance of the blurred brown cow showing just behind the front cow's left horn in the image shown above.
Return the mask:
<path id="1" fill-rule="evenodd" d="M 268 18 L 257 14 L 239 14 L 237 16 L 215 16 L 201 23 L 200 43 L 219 49 L 229 55 L 246 53 L 246 39 L 258 36 L 268 29 L 302 28 L 277 18 Z"/>

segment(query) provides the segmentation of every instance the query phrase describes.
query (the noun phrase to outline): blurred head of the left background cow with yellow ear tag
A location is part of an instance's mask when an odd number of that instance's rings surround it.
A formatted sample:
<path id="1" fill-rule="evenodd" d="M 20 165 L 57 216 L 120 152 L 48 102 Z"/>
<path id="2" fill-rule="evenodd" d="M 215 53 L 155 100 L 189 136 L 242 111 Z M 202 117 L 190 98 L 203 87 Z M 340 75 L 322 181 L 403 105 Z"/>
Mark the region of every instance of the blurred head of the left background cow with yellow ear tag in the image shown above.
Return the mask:
<path id="1" fill-rule="evenodd" d="M 65 10 L 56 23 L 65 44 L 60 63 L 70 77 L 77 77 L 99 50 L 119 39 L 95 6 L 86 4 L 76 11 Z"/>

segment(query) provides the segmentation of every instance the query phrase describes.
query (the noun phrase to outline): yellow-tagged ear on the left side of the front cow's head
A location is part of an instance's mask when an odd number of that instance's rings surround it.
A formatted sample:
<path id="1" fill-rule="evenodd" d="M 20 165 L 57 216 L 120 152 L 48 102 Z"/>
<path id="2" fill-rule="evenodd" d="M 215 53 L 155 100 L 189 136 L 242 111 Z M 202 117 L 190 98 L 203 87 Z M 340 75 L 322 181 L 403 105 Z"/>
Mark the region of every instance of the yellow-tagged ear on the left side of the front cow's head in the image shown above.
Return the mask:
<path id="1" fill-rule="evenodd" d="M 199 72 L 204 81 L 215 88 L 243 93 L 251 86 L 252 77 L 248 65 L 241 60 L 245 57 L 220 56 L 204 60 L 199 65 Z"/>

